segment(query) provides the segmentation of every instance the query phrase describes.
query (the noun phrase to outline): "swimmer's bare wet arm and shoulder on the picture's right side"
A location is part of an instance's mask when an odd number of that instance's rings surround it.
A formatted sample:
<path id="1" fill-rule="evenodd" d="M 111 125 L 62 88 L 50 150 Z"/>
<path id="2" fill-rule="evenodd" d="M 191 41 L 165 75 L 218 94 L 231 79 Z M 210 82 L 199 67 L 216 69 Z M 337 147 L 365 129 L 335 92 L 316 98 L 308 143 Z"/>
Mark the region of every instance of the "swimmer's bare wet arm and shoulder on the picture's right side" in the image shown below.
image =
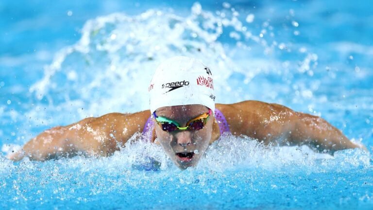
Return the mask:
<path id="1" fill-rule="evenodd" d="M 264 144 L 305 144 L 329 154 L 351 148 L 367 151 L 364 145 L 350 141 L 322 118 L 296 112 L 283 105 L 244 101 L 233 105 L 218 105 L 218 108 L 226 113 L 232 133 L 249 136 Z"/>

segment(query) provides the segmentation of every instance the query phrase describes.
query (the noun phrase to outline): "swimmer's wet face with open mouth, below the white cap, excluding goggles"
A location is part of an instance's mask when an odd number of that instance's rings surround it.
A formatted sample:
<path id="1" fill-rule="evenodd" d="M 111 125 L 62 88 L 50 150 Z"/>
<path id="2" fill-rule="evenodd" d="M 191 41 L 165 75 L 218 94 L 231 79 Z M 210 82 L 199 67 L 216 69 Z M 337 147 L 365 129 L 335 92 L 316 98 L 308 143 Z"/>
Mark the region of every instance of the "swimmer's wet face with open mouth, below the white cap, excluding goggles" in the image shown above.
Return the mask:
<path id="1" fill-rule="evenodd" d="M 186 127 L 189 120 L 207 112 L 208 108 L 203 105 L 179 105 L 161 107 L 155 113 L 157 116 L 179 123 L 180 127 Z M 197 131 L 176 130 L 167 132 L 162 130 L 161 125 L 155 124 L 155 132 L 167 155 L 179 168 L 186 169 L 195 166 L 206 151 L 211 139 L 214 120 L 211 113 L 207 123 Z"/>

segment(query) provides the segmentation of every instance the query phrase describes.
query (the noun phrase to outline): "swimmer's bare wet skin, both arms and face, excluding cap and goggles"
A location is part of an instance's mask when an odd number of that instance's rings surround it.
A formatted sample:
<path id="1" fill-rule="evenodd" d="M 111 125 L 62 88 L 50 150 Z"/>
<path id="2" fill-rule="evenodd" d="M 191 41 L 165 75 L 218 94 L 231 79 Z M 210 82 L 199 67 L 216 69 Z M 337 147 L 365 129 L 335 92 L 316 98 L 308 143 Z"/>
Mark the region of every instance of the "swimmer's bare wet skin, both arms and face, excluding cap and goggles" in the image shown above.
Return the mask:
<path id="1" fill-rule="evenodd" d="M 244 101 L 229 105 L 216 104 L 216 108 L 224 114 L 233 135 L 245 135 L 267 145 L 305 144 L 329 154 L 349 148 L 366 150 L 363 145 L 348 140 L 341 131 L 322 118 L 295 112 L 282 105 Z M 162 107 L 156 113 L 186 126 L 186 122 L 207 110 L 202 105 L 186 105 Z M 28 141 L 22 150 L 9 154 L 8 158 L 47 160 L 77 154 L 109 156 L 120 149 L 119 144 L 124 145 L 136 132 L 142 132 L 150 115 L 149 110 L 133 114 L 110 113 L 54 127 Z M 196 165 L 208 145 L 220 137 L 219 125 L 213 116 L 199 131 L 165 132 L 160 125 L 155 125 L 152 141 L 157 138 L 168 156 L 181 169 Z M 178 154 L 195 150 L 198 150 L 198 154 L 195 153 L 188 161 L 182 161 L 185 154 Z"/>

